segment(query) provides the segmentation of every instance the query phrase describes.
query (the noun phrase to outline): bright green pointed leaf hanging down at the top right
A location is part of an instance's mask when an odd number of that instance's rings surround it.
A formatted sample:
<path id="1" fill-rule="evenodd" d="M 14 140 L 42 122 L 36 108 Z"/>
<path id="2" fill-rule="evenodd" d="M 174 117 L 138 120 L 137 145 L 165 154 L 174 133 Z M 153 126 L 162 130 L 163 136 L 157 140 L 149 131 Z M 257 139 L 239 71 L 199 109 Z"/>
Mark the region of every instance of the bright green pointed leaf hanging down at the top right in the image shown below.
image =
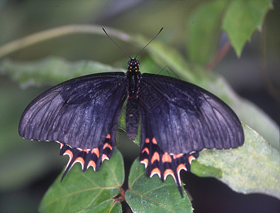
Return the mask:
<path id="1" fill-rule="evenodd" d="M 223 29 L 228 33 L 238 57 L 254 31 L 261 30 L 265 14 L 269 9 L 272 9 L 270 0 L 235 0 L 230 2 L 228 10 L 225 12 Z"/>

